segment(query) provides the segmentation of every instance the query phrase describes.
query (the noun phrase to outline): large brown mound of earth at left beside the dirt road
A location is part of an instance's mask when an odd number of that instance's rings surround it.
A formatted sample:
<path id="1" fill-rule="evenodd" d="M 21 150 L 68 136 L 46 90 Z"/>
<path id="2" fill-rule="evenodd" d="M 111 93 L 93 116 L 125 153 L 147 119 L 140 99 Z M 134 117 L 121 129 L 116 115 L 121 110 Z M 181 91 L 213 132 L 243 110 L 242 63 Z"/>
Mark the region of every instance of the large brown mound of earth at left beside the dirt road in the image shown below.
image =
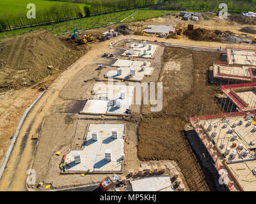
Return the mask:
<path id="1" fill-rule="evenodd" d="M 1 40 L 0 92 L 36 84 L 67 68 L 80 55 L 48 31 Z"/>

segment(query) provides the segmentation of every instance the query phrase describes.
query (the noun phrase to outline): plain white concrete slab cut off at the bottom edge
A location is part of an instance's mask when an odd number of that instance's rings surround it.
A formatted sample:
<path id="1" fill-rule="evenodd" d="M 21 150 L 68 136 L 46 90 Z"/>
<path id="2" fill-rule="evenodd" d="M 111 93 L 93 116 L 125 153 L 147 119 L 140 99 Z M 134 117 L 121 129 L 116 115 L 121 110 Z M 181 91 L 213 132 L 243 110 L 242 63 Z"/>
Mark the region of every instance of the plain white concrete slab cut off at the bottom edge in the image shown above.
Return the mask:
<path id="1" fill-rule="evenodd" d="M 132 191 L 174 191 L 169 175 L 131 181 Z"/>

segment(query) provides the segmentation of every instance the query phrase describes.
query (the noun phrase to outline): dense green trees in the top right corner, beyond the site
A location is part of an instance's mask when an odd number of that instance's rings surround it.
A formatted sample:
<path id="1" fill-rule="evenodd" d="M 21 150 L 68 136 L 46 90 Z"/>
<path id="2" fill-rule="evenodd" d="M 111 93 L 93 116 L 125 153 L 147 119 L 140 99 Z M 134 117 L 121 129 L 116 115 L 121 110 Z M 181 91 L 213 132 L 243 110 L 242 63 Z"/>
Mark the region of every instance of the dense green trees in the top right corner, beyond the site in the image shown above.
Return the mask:
<path id="1" fill-rule="evenodd" d="M 220 10 L 221 3 L 226 3 L 228 11 L 256 11 L 256 0 L 158 0 L 157 7 L 165 9 L 209 9 Z"/>

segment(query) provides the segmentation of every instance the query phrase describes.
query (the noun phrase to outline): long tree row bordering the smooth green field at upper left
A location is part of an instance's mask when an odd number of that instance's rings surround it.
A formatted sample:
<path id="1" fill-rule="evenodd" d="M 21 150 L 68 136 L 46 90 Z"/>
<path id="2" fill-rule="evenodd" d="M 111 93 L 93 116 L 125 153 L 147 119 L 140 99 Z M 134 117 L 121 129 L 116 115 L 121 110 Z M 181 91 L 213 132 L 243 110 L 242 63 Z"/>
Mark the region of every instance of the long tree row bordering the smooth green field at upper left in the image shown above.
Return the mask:
<path id="1" fill-rule="evenodd" d="M 86 2 L 88 3 L 88 1 Z M 36 18 L 27 18 L 26 13 L 1 15 L 0 32 L 36 25 L 53 24 L 81 17 L 89 17 L 91 15 L 143 8 L 154 4 L 154 2 L 155 0 L 93 0 L 90 4 L 85 4 L 85 15 L 81 13 L 81 9 L 77 4 L 56 4 L 47 10 L 36 11 Z"/>

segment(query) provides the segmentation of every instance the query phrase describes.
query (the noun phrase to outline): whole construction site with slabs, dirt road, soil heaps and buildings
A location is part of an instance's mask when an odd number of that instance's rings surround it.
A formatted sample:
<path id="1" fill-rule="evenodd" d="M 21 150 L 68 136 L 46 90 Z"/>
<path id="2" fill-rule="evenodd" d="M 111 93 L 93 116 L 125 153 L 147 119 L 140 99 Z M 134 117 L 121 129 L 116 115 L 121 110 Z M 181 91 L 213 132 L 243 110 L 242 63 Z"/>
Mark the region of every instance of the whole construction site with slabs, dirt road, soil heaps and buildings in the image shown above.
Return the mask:
<path id="1" fill-rule="evenodd" d="M 1 40 L 0 190 L 256 191 L 255 34 L 204 15 Z"/>

